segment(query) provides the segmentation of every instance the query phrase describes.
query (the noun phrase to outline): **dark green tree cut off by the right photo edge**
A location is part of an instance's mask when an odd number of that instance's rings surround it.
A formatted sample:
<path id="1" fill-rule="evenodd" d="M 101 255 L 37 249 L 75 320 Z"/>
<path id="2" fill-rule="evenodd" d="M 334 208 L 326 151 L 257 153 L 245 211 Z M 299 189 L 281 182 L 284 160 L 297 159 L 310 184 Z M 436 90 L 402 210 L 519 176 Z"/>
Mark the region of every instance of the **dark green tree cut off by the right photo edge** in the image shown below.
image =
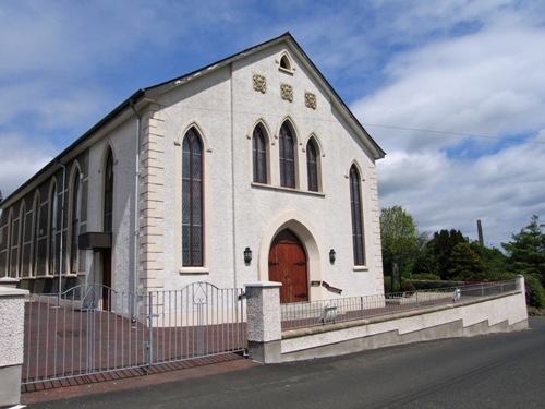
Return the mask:
<path id="1" fill-rule="evenodd" d="M 530 274 L 545 286 L 545 225 L 532 216 L 530 225 L 512 234 L 512 241 L 501 243 L 508 254 L 508 268 L 517 274 Z"/>

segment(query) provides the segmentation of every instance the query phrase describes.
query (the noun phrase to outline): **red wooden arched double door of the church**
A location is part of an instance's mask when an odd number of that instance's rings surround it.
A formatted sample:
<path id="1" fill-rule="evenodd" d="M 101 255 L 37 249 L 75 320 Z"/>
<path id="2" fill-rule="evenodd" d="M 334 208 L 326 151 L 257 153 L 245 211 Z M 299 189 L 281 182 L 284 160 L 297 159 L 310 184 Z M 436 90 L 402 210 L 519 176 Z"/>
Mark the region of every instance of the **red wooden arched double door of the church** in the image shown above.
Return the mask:
<path id="1" fill-rule="evenodd" d="M 282 284 L 281 303 L 308 301 L 306 252 L 289 229 L 280 231 L 270 245 L 269 280 Z"/>

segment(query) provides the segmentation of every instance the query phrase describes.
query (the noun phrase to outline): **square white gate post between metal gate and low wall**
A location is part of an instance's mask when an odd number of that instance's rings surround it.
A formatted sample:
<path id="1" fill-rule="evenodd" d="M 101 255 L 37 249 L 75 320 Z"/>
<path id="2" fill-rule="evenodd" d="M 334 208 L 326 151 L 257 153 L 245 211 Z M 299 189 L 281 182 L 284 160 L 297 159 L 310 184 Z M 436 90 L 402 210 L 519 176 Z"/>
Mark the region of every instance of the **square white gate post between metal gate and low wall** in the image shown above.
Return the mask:
<path id="1" fill-rule="evenodd" d="M 282 361 L 281 282 L 246 284 L 247 347 L 250 359 L 263 363 Z"/>

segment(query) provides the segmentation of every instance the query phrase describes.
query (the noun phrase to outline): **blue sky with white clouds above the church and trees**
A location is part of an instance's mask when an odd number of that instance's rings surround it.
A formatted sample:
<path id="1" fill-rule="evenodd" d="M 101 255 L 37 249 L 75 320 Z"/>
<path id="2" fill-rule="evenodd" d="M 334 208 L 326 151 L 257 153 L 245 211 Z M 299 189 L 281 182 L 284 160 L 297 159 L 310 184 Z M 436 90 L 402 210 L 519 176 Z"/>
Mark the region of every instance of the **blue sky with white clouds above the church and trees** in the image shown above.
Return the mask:
<path id="1" fill-rule="evenodd" d="M 0 0 L 3 196 L 138 88 L 288 31 L 386 151 L 380 207 L 498 249 L 545 220 L 541 0 Z"/>

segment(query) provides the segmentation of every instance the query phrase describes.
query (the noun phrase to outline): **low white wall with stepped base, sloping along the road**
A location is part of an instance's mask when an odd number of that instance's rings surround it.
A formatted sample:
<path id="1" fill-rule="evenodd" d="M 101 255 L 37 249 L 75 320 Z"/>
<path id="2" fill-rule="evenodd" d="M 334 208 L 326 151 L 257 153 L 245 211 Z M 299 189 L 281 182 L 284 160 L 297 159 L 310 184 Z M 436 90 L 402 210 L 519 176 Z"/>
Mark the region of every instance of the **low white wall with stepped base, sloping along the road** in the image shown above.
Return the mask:
<path id="1" fill-rule="evenodd" d="M 519 278 L 518 288 L 524 288 Z M 249 308 L 249 326 L 252 312 Z M 265 363 L 323 358 L 434 339 L 521 330 L 528 328 L 524 291 L 434 306 L 373 318 L 328 324 L 281 333 L 271 354 L 250 357 Z M 280 344 L 279 346 L 277 344 Z M 257 342 L 259 344 L 259 342 Z"/>

